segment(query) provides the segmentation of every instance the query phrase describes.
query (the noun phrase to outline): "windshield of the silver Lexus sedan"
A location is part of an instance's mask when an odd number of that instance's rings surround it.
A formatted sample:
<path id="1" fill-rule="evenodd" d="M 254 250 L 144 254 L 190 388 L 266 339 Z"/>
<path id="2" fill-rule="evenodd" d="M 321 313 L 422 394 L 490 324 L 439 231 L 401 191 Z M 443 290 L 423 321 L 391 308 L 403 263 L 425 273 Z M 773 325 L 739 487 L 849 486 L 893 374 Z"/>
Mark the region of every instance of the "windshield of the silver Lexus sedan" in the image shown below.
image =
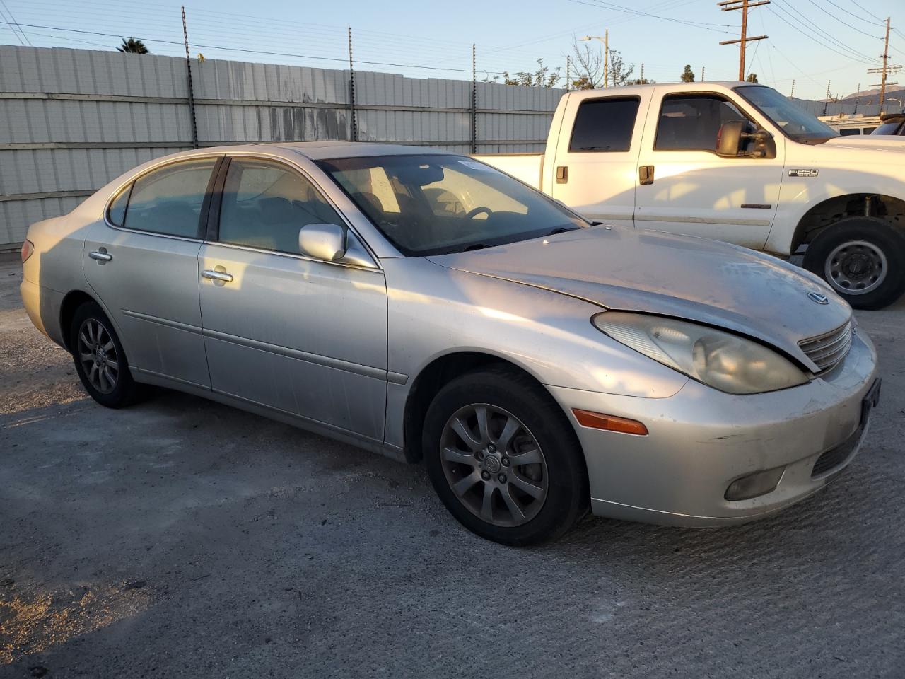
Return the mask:
<path id="1" fill-rule="evenodd" d="M 406 256 L 476 250 L 588 225 L 547 196 L 463 156 L 321 160 Z"/>

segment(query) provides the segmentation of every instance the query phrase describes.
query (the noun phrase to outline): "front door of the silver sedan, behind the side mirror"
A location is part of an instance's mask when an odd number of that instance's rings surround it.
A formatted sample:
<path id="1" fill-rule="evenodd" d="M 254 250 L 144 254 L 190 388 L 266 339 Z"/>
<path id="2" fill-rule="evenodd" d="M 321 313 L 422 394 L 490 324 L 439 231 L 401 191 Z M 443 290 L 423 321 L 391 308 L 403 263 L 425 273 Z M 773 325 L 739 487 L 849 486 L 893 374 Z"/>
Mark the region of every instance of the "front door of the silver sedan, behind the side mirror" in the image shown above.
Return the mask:
<path id="1" fill-rule="evenodd" d="M 346 221 L 309 177 L 264 158 L 229 161 L 211 218 L 196 275 L 214 391 L 382 441 L 384 274 L 299 250 L 302 226 Z"/>

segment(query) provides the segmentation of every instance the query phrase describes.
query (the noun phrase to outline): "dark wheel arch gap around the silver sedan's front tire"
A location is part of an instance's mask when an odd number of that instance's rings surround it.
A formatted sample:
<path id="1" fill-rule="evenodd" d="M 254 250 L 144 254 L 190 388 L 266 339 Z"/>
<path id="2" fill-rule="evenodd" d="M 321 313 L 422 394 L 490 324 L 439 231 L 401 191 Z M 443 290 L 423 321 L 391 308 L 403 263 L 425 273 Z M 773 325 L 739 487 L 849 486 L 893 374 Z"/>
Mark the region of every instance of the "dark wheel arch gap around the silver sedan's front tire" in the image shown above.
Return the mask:
<path id="1" fill-rule="evenodd" d="M 423 457 L 421 433 L 427 408 L 433 397 L 453 378 L 479 368 L 506 368 L 529 378 L 549 395 L 547 387 L 529 370 L 510 359 L 476 350 L 458 350 L 436 357 L 422 368 L 412 381 L 412 387 L 405 397 L 404 436 L 405 460 L 418 463 Z M 549 395 L 552 398 L 552 395 Z"/>

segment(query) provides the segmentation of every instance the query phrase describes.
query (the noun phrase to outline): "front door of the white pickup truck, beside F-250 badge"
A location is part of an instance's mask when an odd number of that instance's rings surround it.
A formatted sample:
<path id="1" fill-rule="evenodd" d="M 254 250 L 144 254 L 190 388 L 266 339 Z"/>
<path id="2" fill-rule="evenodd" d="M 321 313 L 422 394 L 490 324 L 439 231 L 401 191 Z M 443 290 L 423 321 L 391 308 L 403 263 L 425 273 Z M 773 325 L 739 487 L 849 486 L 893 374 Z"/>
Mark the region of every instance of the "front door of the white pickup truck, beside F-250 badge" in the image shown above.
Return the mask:
<path id="1" fill-rule="evenodd" d="M 776 153 L 764 158 L 718 156 L 723 123 L 748 120 L 751 131 L 757 125 L 747 111 L 716 93 L 658 96 L 650 115 L 648 129 L 655 131 L 639 161 L 649 168 L 649 178 L 638 181 L 635 225 L 763 247 L 779 201 L 785 139 L 774 139 Z"/>

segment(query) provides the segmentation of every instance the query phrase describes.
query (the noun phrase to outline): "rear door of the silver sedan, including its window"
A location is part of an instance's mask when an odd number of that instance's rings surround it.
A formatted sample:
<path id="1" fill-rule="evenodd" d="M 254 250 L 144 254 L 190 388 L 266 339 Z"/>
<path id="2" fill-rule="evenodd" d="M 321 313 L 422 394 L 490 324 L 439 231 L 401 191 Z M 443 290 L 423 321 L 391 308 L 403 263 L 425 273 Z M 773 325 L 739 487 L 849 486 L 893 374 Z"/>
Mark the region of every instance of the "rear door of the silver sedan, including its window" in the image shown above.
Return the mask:
<path id="1" fill-rule="evenodd" d="M 167 163 L 119 190 L 91 225 L 84 272 L 129 366 L 210 387 L 197 261 L 219 156 Z"/>

